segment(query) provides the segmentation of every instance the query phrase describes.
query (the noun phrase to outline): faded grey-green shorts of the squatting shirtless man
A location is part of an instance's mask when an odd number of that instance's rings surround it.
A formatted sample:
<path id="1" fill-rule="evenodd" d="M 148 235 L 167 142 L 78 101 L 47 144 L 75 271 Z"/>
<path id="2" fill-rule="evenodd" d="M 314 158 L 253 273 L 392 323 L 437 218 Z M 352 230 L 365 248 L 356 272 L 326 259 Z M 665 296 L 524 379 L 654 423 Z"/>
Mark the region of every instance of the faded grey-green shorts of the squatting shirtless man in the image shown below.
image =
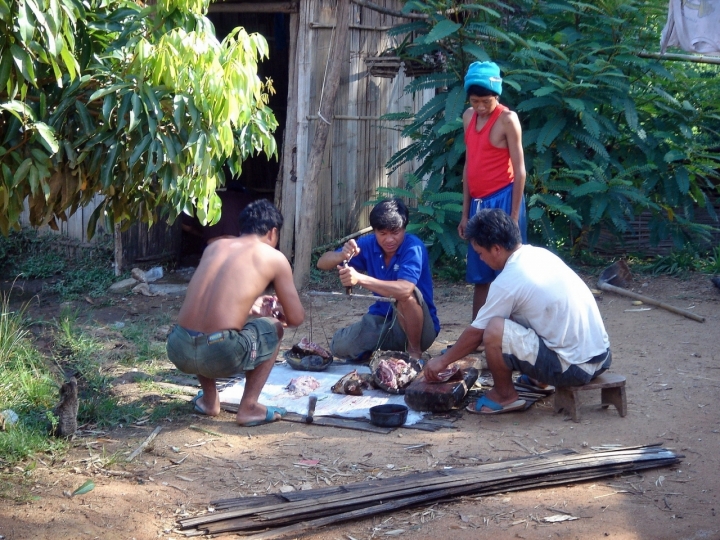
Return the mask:
<path id="1" fill-rule="evenodd" d="M 183 373 L 217 379 L 271 360 L 279 343 L 275 319 L 269 317 L 248 321 L 239 331 L 212 334 L 188 331 L 176 324 L 168 336 L 167 354 Z"/>

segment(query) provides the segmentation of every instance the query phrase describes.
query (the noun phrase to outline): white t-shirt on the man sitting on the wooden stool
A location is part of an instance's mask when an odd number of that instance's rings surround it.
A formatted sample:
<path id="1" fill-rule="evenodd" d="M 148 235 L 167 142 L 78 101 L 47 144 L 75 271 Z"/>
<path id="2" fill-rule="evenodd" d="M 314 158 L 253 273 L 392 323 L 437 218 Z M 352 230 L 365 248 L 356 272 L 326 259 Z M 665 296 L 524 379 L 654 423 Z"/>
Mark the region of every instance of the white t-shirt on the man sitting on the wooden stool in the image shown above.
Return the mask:
<path id="1" fill-rule="evenodd" d="M 532 328 L 568 364 L 582 364 L 610 347 L 590 289 L 557 255 L 523 245 L 490 285 L 472 326 L 511 319 Z"/>

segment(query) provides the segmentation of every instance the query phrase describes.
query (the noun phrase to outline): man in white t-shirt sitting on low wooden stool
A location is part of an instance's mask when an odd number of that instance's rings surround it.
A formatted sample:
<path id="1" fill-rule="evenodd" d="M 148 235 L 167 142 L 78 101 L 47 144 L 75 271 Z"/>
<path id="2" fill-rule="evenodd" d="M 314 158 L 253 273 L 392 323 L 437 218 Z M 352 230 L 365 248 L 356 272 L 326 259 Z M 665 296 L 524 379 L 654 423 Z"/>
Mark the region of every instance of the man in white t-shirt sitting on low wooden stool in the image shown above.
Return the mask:
<path id="1" fill-rule="evenodd" d="M 605 326 L 590 289 L 550 251 L 523 245 L 508 214 L 484 209 L 469 222 L 466 238 L 488 266 L 501 270 L 487 302 L 457 343 L 431 359 L 428 381 L 447 366 L 485 345 L 493 388 L 468 406 L 476 414 L 523 410 L 513 370 L 526 385 L 577 386 L 610 367 Z"/>

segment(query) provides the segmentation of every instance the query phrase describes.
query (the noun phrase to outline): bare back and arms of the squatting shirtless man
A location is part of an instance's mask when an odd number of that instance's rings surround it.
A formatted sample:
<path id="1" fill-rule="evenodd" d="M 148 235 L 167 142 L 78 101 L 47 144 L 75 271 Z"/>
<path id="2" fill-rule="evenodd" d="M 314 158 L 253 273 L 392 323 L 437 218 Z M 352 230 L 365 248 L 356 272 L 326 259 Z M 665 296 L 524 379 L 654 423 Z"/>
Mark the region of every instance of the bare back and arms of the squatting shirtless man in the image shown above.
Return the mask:
<path id="1" fill-rule="evenodd" d="M 190 281 L 178 323 L 204 333 L 239 330 L 271 283 L 286 322 L 299 324 L 302 306 L 285 256 L 253 234 L 217 240 L 206 248 Z"/>

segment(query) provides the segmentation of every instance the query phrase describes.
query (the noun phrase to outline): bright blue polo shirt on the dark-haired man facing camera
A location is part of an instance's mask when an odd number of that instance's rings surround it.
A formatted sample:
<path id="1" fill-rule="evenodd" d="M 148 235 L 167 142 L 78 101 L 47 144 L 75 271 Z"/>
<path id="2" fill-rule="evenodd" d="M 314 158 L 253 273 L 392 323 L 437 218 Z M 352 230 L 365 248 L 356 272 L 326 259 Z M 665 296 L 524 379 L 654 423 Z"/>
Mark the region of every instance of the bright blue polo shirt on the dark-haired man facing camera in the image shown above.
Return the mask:
<path id="1" fill-rule="evenodd" d="M 375 234 L 368 234 L 357 240 L 360 253 L 350 259 L 350 266 L 370 277 L 383 281 L 404 279 L 414 284 L 423 295 L 432 317 L 435 331 L 440 332 L 440 321 L 433 301 L 432 276 L 430 262 L 425 244 L 414 234 L 406 234 L 403 243 L 393 255 L 390 264 L 385 267 L 385 256 L 378 244 Z M 338 249 L 342 251 L 342 248 Z M 375 293 L 373 293 L 375 294 Z M 375 296 L 380 296 L 375 294 Z M 390 311 L 389 302 L 375 302 L 368 313 L 385 317 Z"/>

